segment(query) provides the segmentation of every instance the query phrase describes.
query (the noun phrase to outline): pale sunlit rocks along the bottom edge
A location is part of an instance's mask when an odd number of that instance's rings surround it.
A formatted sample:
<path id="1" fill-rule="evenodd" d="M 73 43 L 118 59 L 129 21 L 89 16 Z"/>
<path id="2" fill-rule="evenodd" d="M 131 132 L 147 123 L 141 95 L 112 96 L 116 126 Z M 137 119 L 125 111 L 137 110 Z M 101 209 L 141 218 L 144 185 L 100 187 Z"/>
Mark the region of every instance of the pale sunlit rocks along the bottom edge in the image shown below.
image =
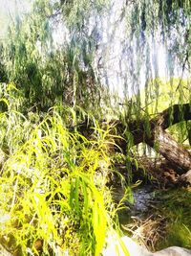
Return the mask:
<path id="1" fill-rule="evenodd" d="M 129 237 L 124 236 L 121 238 L 121 241 L 129 251 L 130 256 L 191 256 L 191 250 L 181 248 L 178 246 L 168 247 L 152 253 L 143 246 L 138 245 Z M 127 256 L 122 250 L 121 244 L 119 244 L 119 242 L 112 244 L 112 240 L 110 240 L 110 243 L 108 244 L 107 248 L 102 252 L 102 255 Z"/>

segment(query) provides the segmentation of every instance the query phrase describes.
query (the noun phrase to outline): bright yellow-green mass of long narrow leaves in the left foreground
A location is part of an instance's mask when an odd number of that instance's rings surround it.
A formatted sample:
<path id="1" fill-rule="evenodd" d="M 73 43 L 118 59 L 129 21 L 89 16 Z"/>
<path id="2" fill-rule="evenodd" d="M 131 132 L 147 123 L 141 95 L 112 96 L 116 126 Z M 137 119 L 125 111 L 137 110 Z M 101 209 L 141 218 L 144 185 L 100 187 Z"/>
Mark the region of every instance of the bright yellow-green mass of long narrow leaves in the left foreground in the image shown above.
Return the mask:
<path id="1" fill-rule="evenodd" d="M 114 135 L 70 132 L 63 112 L 41 122 L 10 107 L 1 113 L 0 242 L 13 255 L 99 255 L 115 227 L 106 187 Z"/>

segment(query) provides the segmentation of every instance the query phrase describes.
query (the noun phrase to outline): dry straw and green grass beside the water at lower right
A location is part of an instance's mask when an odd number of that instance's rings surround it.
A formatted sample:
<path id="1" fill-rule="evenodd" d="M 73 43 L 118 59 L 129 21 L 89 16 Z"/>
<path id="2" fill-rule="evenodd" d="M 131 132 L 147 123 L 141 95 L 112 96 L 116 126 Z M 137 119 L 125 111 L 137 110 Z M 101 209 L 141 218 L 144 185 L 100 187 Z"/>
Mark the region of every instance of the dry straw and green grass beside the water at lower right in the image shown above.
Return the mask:
<path id="1" fill-rule="evenodd" d="M 129 216 L 122 228 L 151 251 L 169 246 L 191 249 L 190 202 L 189 188 L 156 191 L 147 212 L 141 218 Z"/>

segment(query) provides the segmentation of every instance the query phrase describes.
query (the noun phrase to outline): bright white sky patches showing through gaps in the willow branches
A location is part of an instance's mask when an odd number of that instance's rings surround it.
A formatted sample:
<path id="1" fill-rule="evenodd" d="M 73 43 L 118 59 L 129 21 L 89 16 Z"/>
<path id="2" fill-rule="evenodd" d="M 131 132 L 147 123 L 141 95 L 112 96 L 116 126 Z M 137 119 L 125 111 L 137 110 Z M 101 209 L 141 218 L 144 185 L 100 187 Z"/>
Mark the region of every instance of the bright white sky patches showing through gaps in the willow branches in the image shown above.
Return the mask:
<path id="1" fill-rule="evenodd" d="M 102 24 L 99 25 L 99 29 L 102 30 L 100 32 L 100 34 L 102 34 L 102 39 L 98 47 L 97 58 L 102 57 L 103 61 L 103 73 L 100 74 L 102 82 L 107 83 L 111 89 L 114 89 L 120 96 L 122 96 L 124 88 L 123 84 L 126 80 L 126 70 L 129 68 L 126 66 L 122 48 L 122 44 L 126 38 L 125 20 L 118 23 L 123 0 L 113 0 L 113 2 L 114 4 L 111 12 L 103 17 Z M 0 38 L 5 35 L 8 25 L 11 22 L 11 18 L 15 17 L 17 13 L 29 12 L 30 7 L 32 6 L 31 3 L 32 0 L 0 0 Z M 117 29 L 115 29 L 116 25 Z M 66 41 L 66 35 L 67 32 L 63 29 L 63 24 L 58 24 L 56 30 L 53 31 L 53 41 L 57 43 L 57 45 L 60 45 L 63 41 Z M 165 48 L 159 42 L 156 42 L 156 49 L 154 49 L 154 47 L 152 48 L 153 73 L 155 73 L 154 65 L 156 63 L 154 63 L 154 61 L 156 58 L 159 68 L 159 77 L 165 79 L 167 77 Z M 104 81 L 104 72 L 107 72 L 107 82 Z M 140 79 L 138 81 L 140 87 L 143 87 L 145 84 L 145 73 L 146 71 L 141 68 Z M 131 88 L 128 87 L 128 89 L 131 94 Z"/>

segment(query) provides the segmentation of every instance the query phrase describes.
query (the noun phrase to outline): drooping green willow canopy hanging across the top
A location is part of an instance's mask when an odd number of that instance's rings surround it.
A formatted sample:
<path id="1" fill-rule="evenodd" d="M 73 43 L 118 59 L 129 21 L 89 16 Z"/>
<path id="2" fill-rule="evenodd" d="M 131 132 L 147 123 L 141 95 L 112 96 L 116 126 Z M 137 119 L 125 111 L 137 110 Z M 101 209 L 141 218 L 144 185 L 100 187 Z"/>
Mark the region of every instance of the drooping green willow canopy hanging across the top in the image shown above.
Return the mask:
<path id="1" fill-rule="evenodd" d="M 47 90 L 48 98 L 62 94 L 66 100 L 66 95 L 72 96 L 68 97 L 68 103 L 75 104 L 75 98 L 78 104 L 80 98 L 83 102 L 85 92 L 88 97 L 94 94 L 96 100 L 100 88 L 97 81 L 105 79 L 107 84 L 109 69 L 113 72 L 118 61 L 117 58 L 111 61 L 110 57 L 113 57 L 111 45 L 115 47 L 113 41 L 120 30 L 120 50 L 116 53 L 121 59 L 116 67 L 122 77 L 124 95 L 129 98 L 130 91 L 138 95 L 141 80 L 148 85 L 148 81 L 159 77 L 156 49 L 159 44 L 167 51 L 169 78 L 177 67 L 180 78 L 189 68 L 189 21 L 189 1 L 120 1 L 118 4 L 114 0 L 38 0 L 34 1 L 29 15 L 17 18 L 12 24 L 4 62 L 10 80 L 18 81 L 25 88 L 26 96 L 34 98 L 32 102 L 41 100 L 39 93 L 44 100 L 42 95 Z M 57 27 L 61 28 L 59 32 Z M 55 47 L 53 42 L 60 34 L 62 40 Z M 109 82 L 108 85 L 111 86 Z M 156 98 L 158 87 L 155 82 Z"/>

